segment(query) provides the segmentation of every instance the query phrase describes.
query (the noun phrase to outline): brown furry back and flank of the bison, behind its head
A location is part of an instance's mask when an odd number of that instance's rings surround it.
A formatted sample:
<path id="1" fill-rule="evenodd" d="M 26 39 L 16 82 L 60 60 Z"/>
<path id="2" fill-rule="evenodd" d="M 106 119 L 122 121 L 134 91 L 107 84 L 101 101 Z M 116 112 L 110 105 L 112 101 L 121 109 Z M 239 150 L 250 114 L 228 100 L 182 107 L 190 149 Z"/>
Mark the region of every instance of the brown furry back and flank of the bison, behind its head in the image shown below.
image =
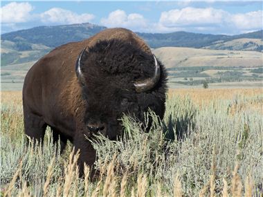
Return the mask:
<path id="1" fill-rule="evenodd" d="M 75 62 L 84 48 L 105 39 L 127 41 L 150 53 L 142 39 L 124 28 L 107 29 L 89 39 L 57 47 L 28 71 L 23 88 L 24 110 L 43 116 L 48 124 L 73 120 L 82 105 Z"/>

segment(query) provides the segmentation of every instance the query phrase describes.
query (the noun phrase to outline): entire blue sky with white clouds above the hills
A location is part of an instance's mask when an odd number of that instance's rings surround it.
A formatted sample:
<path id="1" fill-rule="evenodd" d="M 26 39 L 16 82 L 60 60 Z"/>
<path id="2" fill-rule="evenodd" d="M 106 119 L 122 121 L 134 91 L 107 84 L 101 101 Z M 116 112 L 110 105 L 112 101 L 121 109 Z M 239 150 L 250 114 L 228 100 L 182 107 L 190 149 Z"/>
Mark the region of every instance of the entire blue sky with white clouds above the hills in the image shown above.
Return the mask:
<path id="1" fill-rule="evenodd" d="M 1 33 L 90 22 L 137 32 L 262 29 L 262 1 L 1 1 Z"/>

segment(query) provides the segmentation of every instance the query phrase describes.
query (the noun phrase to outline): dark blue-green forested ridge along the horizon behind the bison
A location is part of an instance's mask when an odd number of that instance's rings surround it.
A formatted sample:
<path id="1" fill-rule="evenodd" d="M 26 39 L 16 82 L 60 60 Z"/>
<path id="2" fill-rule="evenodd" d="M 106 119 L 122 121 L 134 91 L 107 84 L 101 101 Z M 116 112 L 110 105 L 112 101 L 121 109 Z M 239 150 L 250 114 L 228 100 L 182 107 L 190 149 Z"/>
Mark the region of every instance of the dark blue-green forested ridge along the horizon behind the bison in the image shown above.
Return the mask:
<path id="1" fill-rule="evenodd" d="M 94 24 L 73 24 L 65 26 L 39 26 L 27 30 L 19 30 L 1 35 L 2 40 L 17 43 L 17 49 L 28 50 L 30 44 L 42 44 L 54 48 L 70 41 L 80 41 L 104 30 L 106 27 Z M 192 32 L 171 33 L 141 33 L 138 35 L 145 39 L 151 48 L 163 46 L 202 48 L 215 44 L 217 41 L 231 41 L 233 39 L 263 39 L 262 30 L 242 35 L 210 35 Z M 24 48 L 22 47 L 24 44 Z M 20 46 L 20 48 L 19 48 Z M 260 48 L 255 48 L 260 50 Z"/>

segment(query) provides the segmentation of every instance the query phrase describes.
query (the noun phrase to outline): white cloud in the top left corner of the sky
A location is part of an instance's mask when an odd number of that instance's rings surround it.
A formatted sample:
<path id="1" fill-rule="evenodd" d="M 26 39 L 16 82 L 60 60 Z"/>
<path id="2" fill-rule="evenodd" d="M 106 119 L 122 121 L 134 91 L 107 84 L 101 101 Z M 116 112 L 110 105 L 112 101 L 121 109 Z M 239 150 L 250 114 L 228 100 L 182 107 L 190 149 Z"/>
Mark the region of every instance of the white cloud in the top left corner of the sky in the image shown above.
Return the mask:
<path id="1" fill-rule="evenodd" d="M 8 3 L 1 7 L 2 23 L 22 23 L 31 19 L 30 12 L 33 10 L 30 3 Z"/>

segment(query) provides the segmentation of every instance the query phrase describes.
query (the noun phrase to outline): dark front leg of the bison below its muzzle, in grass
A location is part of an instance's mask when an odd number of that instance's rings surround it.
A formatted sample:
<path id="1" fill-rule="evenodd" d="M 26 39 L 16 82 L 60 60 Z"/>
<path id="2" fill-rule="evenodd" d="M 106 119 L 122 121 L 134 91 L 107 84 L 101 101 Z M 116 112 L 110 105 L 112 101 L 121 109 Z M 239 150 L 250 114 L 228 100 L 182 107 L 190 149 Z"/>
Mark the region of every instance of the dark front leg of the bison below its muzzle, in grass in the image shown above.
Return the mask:
<path id="1" fill-rule="evenodd" d="M 73 142 L 75 146 L 75 152 L 80 150 L 80 157 L 78 159 L 78 167 L 80 169 L 80 176 L 84 174 L 84 163 L 86 163 L 91 168 L 91 178 L 95 174 L 95 169 L 93 164 L 96 160 L 96 151 L 89 140 L 84 136 L 84 134 L 76 135 Z"/>

